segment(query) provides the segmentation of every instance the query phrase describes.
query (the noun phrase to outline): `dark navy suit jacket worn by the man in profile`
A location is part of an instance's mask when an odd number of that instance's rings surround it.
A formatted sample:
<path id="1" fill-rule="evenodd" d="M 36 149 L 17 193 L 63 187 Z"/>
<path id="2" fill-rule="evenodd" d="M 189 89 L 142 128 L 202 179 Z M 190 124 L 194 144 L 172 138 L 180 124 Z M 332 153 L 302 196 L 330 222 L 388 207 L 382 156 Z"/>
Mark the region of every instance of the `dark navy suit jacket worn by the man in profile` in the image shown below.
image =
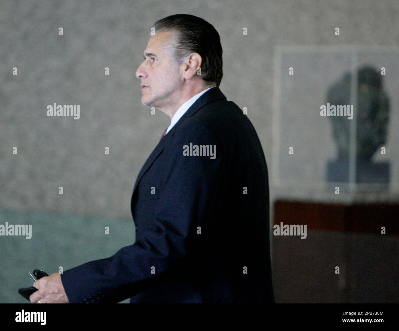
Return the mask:
<path id="1" fill-rule="evenodd" d="M 215 145 L 216 157 L 184 156 L 190 143 Z M 71 303 L 274 303 L 265 156 L 219 88 L 160 140 L 131 210 L 132 245 L 61 274 Z"/>

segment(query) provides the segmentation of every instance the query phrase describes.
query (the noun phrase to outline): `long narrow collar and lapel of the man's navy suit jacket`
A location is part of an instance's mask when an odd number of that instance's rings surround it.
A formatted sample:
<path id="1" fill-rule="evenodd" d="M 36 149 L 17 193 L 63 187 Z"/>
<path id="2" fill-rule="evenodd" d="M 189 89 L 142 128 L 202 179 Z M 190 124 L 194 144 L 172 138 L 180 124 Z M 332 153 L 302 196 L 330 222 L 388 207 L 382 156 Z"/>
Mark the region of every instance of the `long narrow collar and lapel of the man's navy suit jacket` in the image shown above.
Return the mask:
<path id="1" fill-rule="evenodd" d="M 207 103 L 220 100 L 220 99 L 226 99 L 225 95 L 221 92 L 221 90 L 218 87 L 211 88 L 207 92 L 203 93 L 196 102 L 192 104 L 192 106 L 184 113 L 184 115 L 180 118 L 180 120 L 174 125 L 172 129 L 158 142 L 158 145 L 156 145 L 155 149 L 152 151 L 150 156 L 148 157 L 147 161 L 144 163 L 143 167 L 141 168 L 140 172 L 138 173 L 136 183 L 134 183 L 134 189 L 133 189 L 133 194 L 136 192 L 137 185 L 141 179 L 141 177 L 144 175 L 144 173 L 147 171 L 147 169 L 152 165 L 152 163 L 155 161 L 155 159 L 158 157 L 159 154 L 161 154 L 162 150 L 164 150 L 164 147 L 166 146 L 167 142 L 170 140 L 170 138 L 175 134 L 176 130 L 180 125 L 182 125 L 187 119 L 192 117 L 199 109 L 201 109 L 203 106 L 205 106 Z"/>

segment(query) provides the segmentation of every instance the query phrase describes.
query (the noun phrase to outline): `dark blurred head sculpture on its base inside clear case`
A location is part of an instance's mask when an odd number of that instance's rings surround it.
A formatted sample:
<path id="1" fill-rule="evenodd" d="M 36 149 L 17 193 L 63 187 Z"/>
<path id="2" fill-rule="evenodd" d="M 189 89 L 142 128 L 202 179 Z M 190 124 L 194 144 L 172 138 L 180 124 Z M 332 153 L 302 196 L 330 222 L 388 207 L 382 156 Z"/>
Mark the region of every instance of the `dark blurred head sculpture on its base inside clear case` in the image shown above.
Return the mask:
<path id="1" fill-rule="evenodd" d="M 389 97 L 383 90 L 382 75 L 371 66 L 358 69 L 357 105 L 354 117 L 331 116 L 333 136 L 338 145 L 338 160 L 328 165 L 328 181 L 348 181 L 350 161 L 350 125 L 356 121 L 356 182 L 389 181 L 389 164 L 373 163 L 376 150 L 387 141 Z M 350 105 L 352 74 L 328 89 L 331 105 Z"/>

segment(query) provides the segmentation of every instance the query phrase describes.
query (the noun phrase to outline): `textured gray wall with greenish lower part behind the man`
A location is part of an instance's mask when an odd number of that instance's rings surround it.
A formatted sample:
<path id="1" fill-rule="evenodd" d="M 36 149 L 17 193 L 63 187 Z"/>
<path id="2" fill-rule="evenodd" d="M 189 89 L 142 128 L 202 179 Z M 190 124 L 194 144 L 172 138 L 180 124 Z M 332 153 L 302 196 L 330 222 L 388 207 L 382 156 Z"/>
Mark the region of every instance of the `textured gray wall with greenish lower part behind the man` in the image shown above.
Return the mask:
<path id="1" fill-rule="evenodd" d="M 29 286 L 32 268 L 56 272 L 134 241 L 134 181 L 170 124 L 164 113 L 150 115 L 141 104 L 134 75 L 157 19 L 186 13 L 214 25 L 223 47 L 220 88 L 247 107 L 271 171 L 276 46 L 397 46 L 398 12 L 397 0 L 0 2 L 0 224 L 34 228 L 29 243 L 0 237 L 0 267 L 7 267 L 7 273 L 0 268 L 7 284 L 0 302 L 24 302 L 16 289 Z M 81 118 L 47 117 L 54 102 L 80 105 Z M 272 186 L 271 203 L 278 194 Z M 107 224 L 113 239 L 103 234 Z M 279 289 L 277 298 L 289 301 Z"/>

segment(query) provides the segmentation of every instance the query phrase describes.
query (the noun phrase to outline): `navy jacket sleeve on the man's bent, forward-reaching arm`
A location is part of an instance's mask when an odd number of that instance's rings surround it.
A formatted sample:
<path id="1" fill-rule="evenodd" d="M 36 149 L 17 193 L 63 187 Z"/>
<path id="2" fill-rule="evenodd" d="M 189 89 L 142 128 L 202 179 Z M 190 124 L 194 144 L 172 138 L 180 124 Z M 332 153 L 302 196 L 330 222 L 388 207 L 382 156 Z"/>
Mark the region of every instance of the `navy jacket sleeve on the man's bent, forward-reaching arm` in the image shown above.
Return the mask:
<path id="1" fill-rule="evenodd" d="M 215 157 L 185 156 L 190 143 L 212 146 Z M 111 257 L 64 271 L 61 280 L 69 302 L 120 302 L 154 286 L 157 277 L 185 257 L 197 227 L 209 217 L 222 177 L 218 147 L 216 134 L 203 124 L 187 120 L 175 132 L 164 150 L 171 170 L 156 207 L 156 227 Z"/>

